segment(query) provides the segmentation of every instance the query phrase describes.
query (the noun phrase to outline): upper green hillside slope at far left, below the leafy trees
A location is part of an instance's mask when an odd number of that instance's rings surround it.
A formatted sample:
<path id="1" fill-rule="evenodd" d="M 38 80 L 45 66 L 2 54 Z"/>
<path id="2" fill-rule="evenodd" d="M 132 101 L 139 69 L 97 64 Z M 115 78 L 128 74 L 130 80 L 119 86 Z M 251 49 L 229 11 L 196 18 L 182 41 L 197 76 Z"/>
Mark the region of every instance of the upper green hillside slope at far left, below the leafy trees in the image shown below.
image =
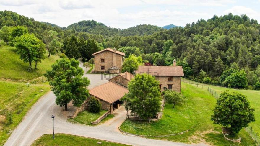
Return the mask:
<path id="1" fill-rule="evenodd" d="M 29 63 L 25 63 L 20 59 L 20 56 L 15 52 L 15 47 L 10 47 L 1 44 L 0 47 L 0 79 L 11 79 L 16 81 L 28 81 L 34 78 L 43 76 L 46 70 L 51 68 L 51 65 L 57 60 L 58 56 L 51 55 L 46 57 L 42 63 L 38 63 L 38 69 L 28 72 Z M 32 63 L 34 66 L 35 63 Z"/>

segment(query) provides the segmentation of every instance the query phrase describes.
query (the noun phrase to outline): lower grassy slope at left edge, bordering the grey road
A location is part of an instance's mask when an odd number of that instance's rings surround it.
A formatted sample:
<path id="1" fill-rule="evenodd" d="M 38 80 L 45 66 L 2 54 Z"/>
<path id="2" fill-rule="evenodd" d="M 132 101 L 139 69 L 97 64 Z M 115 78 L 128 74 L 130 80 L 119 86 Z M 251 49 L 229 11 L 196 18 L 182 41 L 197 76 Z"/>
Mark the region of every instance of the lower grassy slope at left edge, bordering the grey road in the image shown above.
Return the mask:
<path id="1" fill-rule="evenodd" d="M 4 144 L 10 136 L 9 132 L 22 121 L 32 105 L 48 91 L 48 83 L 26 87 L 25 83 L 0 80 L 0 116 L 5 119 L 10 112 L 12 117 L 11 124 L 6 124 L 6 120 L 0 119 L 0 145 Z"/>

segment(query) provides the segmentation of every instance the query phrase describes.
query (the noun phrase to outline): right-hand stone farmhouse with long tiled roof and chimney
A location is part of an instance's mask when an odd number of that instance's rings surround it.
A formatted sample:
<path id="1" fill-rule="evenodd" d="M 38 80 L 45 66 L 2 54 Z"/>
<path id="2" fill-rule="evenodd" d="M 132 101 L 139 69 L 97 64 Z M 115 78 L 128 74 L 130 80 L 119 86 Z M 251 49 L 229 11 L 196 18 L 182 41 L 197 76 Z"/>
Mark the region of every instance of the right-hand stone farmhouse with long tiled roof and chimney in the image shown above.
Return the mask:
<path id="1" fill-rule="evenodd" d="M 135 75 L 142 73 L 155 76 L 160 82 L 161 91 L 168 89 L 181 92 L 181 77 L 184 73 L 182 66 L 176 66 L 175 60 L 173 66 L 139 66 Z"/>

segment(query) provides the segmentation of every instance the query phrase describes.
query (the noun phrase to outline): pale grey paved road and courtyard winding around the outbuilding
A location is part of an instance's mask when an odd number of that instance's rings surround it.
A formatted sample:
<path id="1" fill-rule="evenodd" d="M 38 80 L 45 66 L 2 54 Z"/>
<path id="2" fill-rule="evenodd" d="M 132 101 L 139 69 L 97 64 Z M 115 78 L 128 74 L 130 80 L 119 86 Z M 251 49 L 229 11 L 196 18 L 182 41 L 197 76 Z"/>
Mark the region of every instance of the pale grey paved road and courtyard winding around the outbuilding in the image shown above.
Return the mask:
<path id="1" fill-rule="evenodd" d="M 91 85 L 89 88 L 108 82 L 108 80 L 104 79 L 105 76 L 101 76 L 100 74 L 85 74 L 84 76 L 90 79 Z M 126 111 L 123 106 L 114 112 L 114 118 L 98 126 L 86 126 L 67 122 L 67 116 L 70 112 L 65 112 L 63 109 L 64 107 L 56 105 L 55 95 L 52 92 L 41 97 L 24 117 L 24 120 L 12 132 L 5 146 L 29 146 L 43 134 L 52 134 L 51 115 L 55 115 L 55 133 L 73 134 L 138 146 L 186 145 L 122 134 L 119 132 L 118 127 L 125 120 Z M 73 108 L 69 106 L 69 109 Z"/>

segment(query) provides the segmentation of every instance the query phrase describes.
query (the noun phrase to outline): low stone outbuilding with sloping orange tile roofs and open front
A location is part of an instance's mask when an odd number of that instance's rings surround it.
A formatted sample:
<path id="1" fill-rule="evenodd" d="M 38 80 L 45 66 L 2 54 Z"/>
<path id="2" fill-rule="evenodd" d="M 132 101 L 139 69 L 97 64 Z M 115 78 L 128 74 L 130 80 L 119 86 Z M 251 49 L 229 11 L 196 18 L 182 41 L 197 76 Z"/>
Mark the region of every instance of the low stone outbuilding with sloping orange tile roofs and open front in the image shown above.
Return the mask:
<path id="1" fill-rule="evenodd" d="M 121 73 L 109 80 L 108 83 L 89 90 L 89 94 L 99 99 L 102 109 L 110 111 L 110 114 L 121 106 L 120 99 L 128 93 L 127 84 L 134 78 L 128 72 Z"/>

